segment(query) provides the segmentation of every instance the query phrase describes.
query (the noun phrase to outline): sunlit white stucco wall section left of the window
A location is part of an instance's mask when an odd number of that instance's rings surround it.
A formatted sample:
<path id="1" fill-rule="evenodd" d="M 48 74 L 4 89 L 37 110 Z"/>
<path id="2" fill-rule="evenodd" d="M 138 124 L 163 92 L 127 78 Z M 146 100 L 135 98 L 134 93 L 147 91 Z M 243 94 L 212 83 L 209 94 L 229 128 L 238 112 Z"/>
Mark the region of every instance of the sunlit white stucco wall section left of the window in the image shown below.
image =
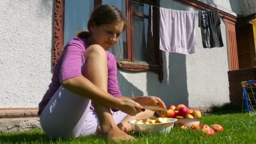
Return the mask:
<path id="1" fill-rule="evenodd" d="M 51 79 L 52 0 L 0 1 L 0 107 L 37 107 Z"/>

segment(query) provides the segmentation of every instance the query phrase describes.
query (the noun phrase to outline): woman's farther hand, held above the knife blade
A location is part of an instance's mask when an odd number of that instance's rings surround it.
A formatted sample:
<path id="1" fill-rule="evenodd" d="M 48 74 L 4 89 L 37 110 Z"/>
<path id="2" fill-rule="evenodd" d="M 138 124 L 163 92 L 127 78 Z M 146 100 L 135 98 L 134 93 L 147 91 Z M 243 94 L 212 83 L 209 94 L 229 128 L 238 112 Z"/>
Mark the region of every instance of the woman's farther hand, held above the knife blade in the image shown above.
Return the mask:
<path id="1" fill-rule="evenodd" d="M 156 96 L 138 96 L 134 98 L 134 101 L 141 104 L 141 106 L 157 106 L 166 109 L 165 103 Z M 155 111 L 158 115 L 161 112 Z"/>

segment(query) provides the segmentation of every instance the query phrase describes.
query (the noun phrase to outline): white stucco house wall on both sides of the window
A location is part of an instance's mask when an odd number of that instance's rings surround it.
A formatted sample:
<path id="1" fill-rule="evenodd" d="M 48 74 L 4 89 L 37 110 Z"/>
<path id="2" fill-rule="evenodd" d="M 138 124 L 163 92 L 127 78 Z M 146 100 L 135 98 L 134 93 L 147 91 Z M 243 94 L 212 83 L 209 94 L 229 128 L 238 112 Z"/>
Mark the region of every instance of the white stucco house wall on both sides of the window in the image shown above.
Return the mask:
<path id="1" fill-rule="evenodd" d="M 174 5 L 173 5 L 174 4 Z M 161 7 L 192 11 L 161 0 Z M 0 5 L 0 107 L 37 107 L 52 75 L 53 3 L 50 0 L 4 0 Z M 196 20 L 197 23 L 197 20 Z M 154 72 L 118 70 L 123 96 L 159 96 L 165 104 L 207 107 L 229 102 L 226 31 L 222 48 L 204 49 L 196 28 L 195 53 L 163 52 L 164 80 Z"/>

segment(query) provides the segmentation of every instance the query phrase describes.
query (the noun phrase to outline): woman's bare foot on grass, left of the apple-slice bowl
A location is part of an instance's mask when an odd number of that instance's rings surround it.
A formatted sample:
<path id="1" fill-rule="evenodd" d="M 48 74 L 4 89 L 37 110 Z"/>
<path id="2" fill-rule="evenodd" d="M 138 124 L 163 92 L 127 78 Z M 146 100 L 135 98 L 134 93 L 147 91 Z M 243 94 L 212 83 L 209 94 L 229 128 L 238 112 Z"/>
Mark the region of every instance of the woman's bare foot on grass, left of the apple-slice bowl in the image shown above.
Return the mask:
<path id="1" fill-rule="evenodd" d="M 97 128 L 97 133 L 101 135 L 101 138 L 105 141 L 130 141 L 135 140 L 133 136 L 128 135 L 127 133 L 121 131 L 118 127 L 111 128 L 109 131 L 103 132 L 101 128 Z"/>

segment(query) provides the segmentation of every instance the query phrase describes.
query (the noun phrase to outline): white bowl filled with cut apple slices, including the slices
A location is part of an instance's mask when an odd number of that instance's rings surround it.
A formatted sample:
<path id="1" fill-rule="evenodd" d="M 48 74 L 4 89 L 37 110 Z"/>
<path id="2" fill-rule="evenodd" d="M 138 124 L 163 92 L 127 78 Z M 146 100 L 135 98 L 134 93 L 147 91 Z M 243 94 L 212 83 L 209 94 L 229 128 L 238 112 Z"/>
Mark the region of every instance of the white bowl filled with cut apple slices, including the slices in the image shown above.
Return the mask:
<path id="1" fill-rule="evenodd" d="M 133 131 L 136 133 L 169 133 L 173 128 L 176 118 L 167 117 L 151 117 L 149 119 L 131 120 L 128 123 L 131 124 Z"/>

